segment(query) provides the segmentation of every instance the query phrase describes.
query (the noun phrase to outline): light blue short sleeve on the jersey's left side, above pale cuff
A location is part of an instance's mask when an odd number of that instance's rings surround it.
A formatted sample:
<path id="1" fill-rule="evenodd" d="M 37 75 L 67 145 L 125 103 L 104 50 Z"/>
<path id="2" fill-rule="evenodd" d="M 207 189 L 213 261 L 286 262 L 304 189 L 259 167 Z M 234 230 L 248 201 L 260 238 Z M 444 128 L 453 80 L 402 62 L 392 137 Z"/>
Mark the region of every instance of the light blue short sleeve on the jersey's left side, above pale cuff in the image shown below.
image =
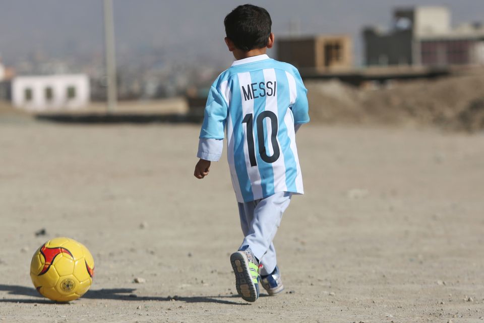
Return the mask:
<path id="1" fill-rule="evenodd" d="M 228 106 L 222 94 L 212 85 L 208 93 L 200 139 L 223 139 Z"/>

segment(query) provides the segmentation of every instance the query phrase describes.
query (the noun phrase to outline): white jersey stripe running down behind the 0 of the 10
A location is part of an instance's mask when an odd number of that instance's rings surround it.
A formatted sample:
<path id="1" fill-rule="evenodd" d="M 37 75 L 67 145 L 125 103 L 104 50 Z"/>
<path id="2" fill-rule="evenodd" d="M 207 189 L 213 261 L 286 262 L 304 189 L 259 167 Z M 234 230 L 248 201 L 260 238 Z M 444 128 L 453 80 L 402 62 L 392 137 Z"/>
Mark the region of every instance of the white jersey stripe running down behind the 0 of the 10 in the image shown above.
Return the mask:
<path id="1" fill-rule="evenodd" d="M 276 81 L 276 71 L 274 69 L 266 69 L 263 70 L 264 72 L 264 81 L 267 84 L 268 81 L 271 81 L 272 84 Z M 277 96 L 269 96 L 266 95 L 266 111 L 272 111 L 276 116 L 277 120 L 279 120 L 278 111 L 277 111 Z M 266 118 L 266 126 L 267 126 L 267 137 L 269 138 L 269 154 L 272 156 L 274 153 L 270 135 L 272 135 L 272 125 L 269 118 Z M 279 146 L 280 156 L 277 158 L 274 163 L 272 163 L 272 172 L 274 173 L 274 192 L 285 192 L 287 191 L 286 186 L 286 167 L 284 165 L 284 154 L 282 153 L 281 145 L 279 144 L 279 140 L 277 141 L 277 145 Z"/>

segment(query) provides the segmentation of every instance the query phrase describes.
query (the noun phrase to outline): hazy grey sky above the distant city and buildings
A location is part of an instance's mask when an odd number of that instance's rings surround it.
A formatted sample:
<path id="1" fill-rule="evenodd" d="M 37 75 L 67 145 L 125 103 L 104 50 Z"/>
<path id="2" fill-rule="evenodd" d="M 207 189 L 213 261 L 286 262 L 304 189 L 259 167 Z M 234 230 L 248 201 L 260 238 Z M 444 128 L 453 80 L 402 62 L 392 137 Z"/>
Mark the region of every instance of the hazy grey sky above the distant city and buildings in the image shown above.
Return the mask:
<path id="1" fill-rule="evenodd" d="M 157 48 L 169 57 L 231 59 L 223 43 L 223 18 L 245 1 L 113 0 L 118 55 Z M 303 34 L 349 33 L 364 25 L 388 26 L 395 6 L 447 5 L 452 22 L 484 20 L 484 0 L 263 0 L 273 31 L 287 35 L 296 21 Z M 62 57 L 102 53 L 102 0 L 0 0 L 0 54 L 4 61 L 43 51 Z"/>

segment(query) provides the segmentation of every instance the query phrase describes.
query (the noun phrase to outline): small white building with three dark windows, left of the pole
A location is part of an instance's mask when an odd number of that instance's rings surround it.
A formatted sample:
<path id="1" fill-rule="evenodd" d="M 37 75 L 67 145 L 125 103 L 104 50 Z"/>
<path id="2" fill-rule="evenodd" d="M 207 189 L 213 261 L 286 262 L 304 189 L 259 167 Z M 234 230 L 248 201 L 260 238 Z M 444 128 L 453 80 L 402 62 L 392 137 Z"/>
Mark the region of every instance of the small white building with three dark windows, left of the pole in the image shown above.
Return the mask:
<path id="1" fill-rule="evenodd" d="M 12 103 L 30 111 L 76 109 L 89 103 L 84 74 L 18 76 L 12 80 Z"/>

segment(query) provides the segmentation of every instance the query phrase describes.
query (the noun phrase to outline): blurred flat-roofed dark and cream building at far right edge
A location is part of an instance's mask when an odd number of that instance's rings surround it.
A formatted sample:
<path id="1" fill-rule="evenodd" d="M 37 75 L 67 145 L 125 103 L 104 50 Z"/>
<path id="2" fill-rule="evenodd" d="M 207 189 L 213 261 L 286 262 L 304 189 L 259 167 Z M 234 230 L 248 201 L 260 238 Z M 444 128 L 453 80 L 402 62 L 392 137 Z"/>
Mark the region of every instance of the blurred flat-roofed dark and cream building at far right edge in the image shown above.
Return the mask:
<path id="1" fill-rule="evenodd" d="M 368 66 L 484 64 L 484 26 L 452 28 L 446 7 L 396 9 L 390 31 L 367 27 L 363 36 Z"/>

